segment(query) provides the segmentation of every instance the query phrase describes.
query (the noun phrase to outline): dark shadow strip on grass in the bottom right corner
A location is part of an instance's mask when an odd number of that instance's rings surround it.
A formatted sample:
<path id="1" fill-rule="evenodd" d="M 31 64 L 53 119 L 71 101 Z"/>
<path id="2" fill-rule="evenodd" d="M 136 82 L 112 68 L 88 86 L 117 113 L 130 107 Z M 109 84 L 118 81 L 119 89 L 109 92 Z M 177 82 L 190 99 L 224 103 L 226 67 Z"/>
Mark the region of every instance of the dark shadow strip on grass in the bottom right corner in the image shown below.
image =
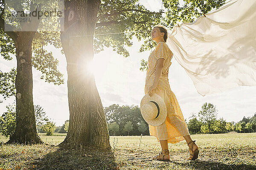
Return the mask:
<path id="1" fill-rule="evenodd" d="M 233 164 L 224 164 L 222 162 L 195 160 L 186 163 L 176 161 L 169 161 L 169 163 L 176 164 L 182 167 L 192 167 L 195 170 L 256 170 L 255 165 L 248 165 L 241 162 L 233 162 Z"/>

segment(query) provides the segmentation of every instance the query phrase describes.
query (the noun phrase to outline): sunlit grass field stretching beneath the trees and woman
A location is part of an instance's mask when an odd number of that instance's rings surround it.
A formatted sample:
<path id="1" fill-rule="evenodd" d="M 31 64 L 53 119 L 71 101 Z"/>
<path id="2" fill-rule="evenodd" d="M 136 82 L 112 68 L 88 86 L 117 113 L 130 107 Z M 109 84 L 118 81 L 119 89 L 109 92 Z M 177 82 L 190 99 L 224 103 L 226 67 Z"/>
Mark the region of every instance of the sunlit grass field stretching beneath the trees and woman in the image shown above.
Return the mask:
<path id="1" fill-rule="evenodd" d="M 199 147 L 195 161 L 186 160 L 186 141 L 169 144 L 171 161 L 153 161 L 160 143 L 153 136 L 111 136 L 111 151 L 59 150 L 66 134 L 46 136 L 45 144 L 3 145 L 0 170 L 256 170 L 256 133 L 192 135 Z M 57 136 L 58 135 L 58 136 Z M 0 141 L 6 142 L 4 136 Z"/>

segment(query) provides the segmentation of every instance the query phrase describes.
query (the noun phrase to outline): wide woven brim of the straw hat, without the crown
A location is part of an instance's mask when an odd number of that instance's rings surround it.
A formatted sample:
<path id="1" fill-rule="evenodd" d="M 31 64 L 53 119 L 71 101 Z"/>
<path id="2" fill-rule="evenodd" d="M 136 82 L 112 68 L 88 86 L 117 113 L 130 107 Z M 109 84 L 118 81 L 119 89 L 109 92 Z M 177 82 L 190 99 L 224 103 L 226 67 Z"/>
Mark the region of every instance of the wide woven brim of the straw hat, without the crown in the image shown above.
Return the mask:
<path id="1" fill-rule="evenodd" d="M 149 94 L 146 94 L 141 102 L 140 102 L 140 108 L 142 106 L 150 101 L 157 102 L 160 108 L 160 114 L 156 119 L 148 119 L 145 115 L 143 115 L 143 112 L 141 111 L 141 114 L 143 116 L 143 119 L 148 123 L 148 125 L 151 126 L 160 126 L 163 124 L 164 121 L 166 121 L 166 116 L 167 116 L 167 109 L 166 109 L 166 104 L 161 96 L 158 94 L 153 94 L 152 96 L 149 96 Z"/>

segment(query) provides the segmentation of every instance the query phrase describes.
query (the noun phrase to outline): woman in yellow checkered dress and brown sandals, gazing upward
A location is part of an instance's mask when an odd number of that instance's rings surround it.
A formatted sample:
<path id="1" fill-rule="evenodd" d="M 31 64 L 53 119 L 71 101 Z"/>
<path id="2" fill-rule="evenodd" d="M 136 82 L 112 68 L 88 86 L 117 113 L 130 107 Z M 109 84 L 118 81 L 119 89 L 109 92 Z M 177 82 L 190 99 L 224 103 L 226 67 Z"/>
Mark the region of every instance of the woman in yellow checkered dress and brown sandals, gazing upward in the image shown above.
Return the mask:
<path id="1" fill-rule="evenodd" d="M 198 158 L 198 146 L 190 137 L 176 96 L 169 85 L 168 71 L 173 54 L 165 43 L 168 37 L 166 28 L 162 25 L 155 26 L 151 31 L 151 37 L 157 42 L 157 46 L 148 57 L 145 94 L 158 94 L 164 99 L 167 108 L 166 121 L 162 125 L 148 125 L 150 135 L 155 136 L 162 147 L 162 152 L 153 159 L 169 160 L 168 143 L 177 143 L 185 139 L 189 146 L 189 160 L 195 160 Z"/>

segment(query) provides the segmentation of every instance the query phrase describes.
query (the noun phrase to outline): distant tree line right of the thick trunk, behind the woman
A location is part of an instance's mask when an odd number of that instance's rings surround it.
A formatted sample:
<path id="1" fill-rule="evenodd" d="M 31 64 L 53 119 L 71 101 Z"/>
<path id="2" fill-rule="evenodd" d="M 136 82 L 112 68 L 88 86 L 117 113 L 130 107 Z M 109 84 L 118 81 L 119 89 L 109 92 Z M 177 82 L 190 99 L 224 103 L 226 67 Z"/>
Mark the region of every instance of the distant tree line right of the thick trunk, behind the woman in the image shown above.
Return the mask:
<path id="1" fill-rule="evenodd" d="M 119 135 L 149 135 L 148 124 L 144 121 L 138 106 L 111 105 L 104 108 L 111 136 Z M 238 133 L 256 132 L 256 113 L 253 117 L 244 118 L 235 123 L 223 118 L 217 119 L 218 110 L 211 103 L 204 103 L 201 111 L 189 117 L 187 125 L 189 133 Z"/>

